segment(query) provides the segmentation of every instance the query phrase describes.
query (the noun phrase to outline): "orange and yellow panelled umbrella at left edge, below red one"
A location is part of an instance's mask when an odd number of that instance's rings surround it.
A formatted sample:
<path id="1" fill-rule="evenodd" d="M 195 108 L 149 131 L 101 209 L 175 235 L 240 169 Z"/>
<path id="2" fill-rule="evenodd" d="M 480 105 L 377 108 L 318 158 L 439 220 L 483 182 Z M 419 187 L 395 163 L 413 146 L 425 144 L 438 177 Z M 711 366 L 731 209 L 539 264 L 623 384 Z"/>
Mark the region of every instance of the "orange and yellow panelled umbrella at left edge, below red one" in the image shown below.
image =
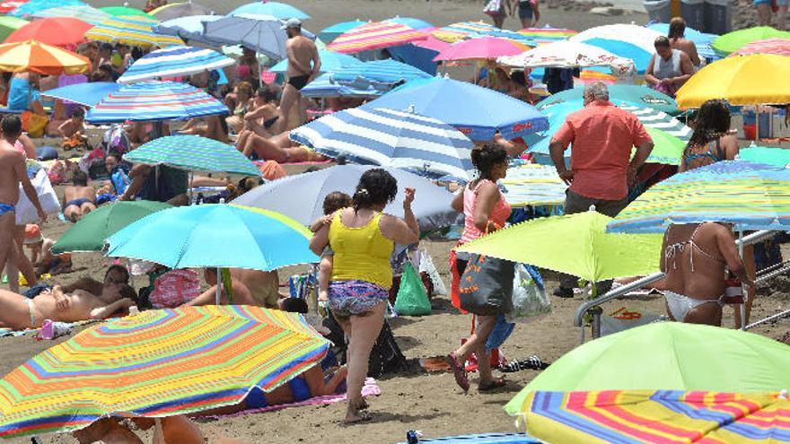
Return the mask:
<path id="1" fill-rule="evenodd" d="M 31 0 L 32 1 L 32 0 Z M 91 62 L 66 49 L 27 40 L 0 45 L 0 70 L 47 75 L 84 74 Z"/>

